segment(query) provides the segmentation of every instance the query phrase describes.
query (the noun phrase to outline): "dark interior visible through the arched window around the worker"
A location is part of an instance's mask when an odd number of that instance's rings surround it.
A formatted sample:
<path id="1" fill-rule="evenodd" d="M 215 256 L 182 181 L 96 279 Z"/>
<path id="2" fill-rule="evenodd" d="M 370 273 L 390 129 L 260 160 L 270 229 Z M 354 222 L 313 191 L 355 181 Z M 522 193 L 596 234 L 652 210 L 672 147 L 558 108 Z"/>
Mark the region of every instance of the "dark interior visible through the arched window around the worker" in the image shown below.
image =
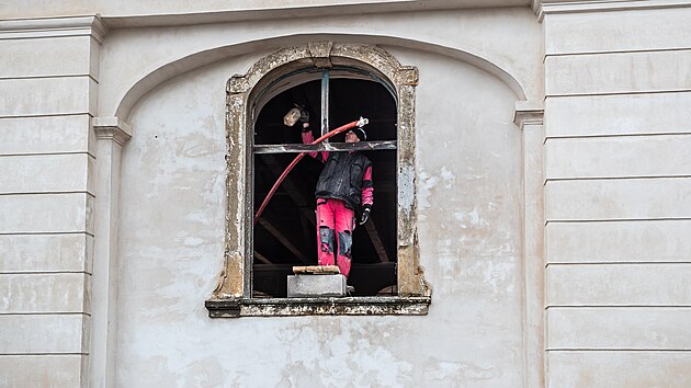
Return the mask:
<path id="1" fill-rule="evenodd" d="M 283 116 L 294 106 L 310 113 L 314 137 L 320 136 L 321 81 L 295 85 L 270 100 L 254 123 L 256 145 L 299 145 L 301 126 L 287 127 Z M 362 79 L 331 79 L 330 128 L 367 117 L 367 141 L 396 140 L 396 102 L 382 84 Z M 342 142 L 343 136 L 330 139 Z M 396 150 L 367 150 L 373 162 L 374 207 L 371 222 L 353 232 L 353 262 L 348 283 L 356 296 L 396 292 Z M 254 153 L 254 214 L 296 152 Z M 314 190 L 321 162 L 308 156 L 287 175 L 253 228 L 253 297 L 285 297 L 293 265 L 317 264 Z"/>

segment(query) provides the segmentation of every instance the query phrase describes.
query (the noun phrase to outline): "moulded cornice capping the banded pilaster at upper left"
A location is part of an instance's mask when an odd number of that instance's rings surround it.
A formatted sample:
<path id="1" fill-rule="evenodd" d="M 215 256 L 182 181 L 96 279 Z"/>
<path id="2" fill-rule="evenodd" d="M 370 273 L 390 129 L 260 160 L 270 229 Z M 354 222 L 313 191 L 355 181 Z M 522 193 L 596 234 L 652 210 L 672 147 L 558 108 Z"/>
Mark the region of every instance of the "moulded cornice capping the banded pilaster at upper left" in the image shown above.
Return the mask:
<path id="1" fill-rule="evenodd" d="M 11 19 L 0 21 L 1 39 L 30 39 L 41 37 L 93 36 L 99 43 L 107 33 L 100 15 Z"/>

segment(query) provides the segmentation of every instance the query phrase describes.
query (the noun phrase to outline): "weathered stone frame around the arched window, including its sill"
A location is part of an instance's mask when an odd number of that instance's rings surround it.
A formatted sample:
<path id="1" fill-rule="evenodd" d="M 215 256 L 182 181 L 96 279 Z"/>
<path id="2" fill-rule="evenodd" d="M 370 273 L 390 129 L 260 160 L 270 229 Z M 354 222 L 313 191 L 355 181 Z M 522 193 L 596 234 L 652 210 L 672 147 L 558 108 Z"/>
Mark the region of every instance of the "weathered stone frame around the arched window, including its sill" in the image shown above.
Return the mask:
<path id="1" fill-rule="evenodd" d="M 377 73 L 396 92 L 397 285 L 393 297 L 252 298 L 252 103 L 258 91 L 292 70 L 350 66 Z M 415 96 L 418 69 L 401 66 L 384 49 L 361 44 L 315 42 L 261 58 L 226 88 L 226 232 L 224 264 L 212 298 L 212 318 L 305 315 L 427 315 L 431 289 L 419 265 L 415 185 Z"/>

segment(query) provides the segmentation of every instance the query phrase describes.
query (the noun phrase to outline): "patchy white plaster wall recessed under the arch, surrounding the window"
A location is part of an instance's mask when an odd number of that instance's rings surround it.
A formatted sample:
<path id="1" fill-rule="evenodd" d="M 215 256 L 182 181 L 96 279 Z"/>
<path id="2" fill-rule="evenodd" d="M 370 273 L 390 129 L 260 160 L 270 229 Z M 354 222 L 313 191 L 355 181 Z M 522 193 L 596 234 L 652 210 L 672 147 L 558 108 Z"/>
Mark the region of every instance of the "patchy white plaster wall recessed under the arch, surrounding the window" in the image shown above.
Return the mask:
<path id="1" fill-rule="evenodd" d="M 385 48 L 420 69 L 419 232 L 434 289 L 430 315 L 207 318 L 203 301 L 223 260 L 225 83 L 267 53 L 228 58 L 162 84 L 131 116 L 118 386 L 521 384 L 516 96 L 457 60 Z"/>

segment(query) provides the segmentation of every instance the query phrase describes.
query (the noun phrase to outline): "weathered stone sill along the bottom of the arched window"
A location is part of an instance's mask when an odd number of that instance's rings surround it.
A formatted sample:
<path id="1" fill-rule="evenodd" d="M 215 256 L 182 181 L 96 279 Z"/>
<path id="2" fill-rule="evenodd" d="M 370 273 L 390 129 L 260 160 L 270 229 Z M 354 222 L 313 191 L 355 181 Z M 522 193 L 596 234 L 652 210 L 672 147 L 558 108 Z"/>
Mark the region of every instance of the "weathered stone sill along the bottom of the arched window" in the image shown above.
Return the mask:
<path id="1" fill-rule="evenodd" d="M 426 316 L 431 297 L 209 299 L 209 318 L 303 316 Z"/>

